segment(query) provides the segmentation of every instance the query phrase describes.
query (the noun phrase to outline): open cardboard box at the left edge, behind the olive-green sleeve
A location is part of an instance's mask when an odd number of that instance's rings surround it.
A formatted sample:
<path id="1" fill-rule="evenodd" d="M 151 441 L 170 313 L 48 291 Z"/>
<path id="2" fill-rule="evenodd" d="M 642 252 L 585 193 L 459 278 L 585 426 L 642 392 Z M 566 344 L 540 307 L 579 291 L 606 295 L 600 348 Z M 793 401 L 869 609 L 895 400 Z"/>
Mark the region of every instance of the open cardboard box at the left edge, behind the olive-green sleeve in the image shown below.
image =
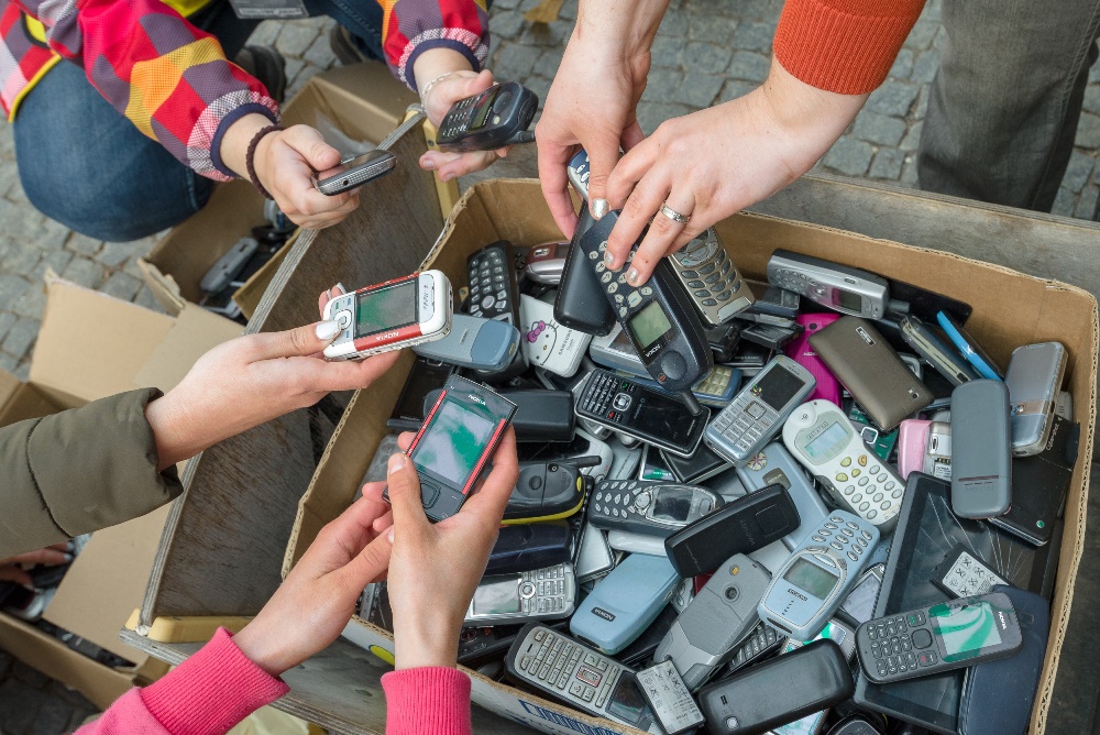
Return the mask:
<path id="1" fill-rule="evenodd" d="M 30 380 L 22 383 L 0 371 L 0 426 L 138 387 L 167 391 L 199 355 L 241 331 L 240 325 L 194 305 L 168 317 L 56 277 L 47 277 L 46 287 Z M 167 515 L 163 507 L 97 531 L 44 614 L 46 621 L 132 661 L 132 668 L 98 663 L 2 613 L 0 648 L 101 707 L 135 683 L 163 676 L 167 665 L 123 644 L 118 628 L 141 604 Z"/>

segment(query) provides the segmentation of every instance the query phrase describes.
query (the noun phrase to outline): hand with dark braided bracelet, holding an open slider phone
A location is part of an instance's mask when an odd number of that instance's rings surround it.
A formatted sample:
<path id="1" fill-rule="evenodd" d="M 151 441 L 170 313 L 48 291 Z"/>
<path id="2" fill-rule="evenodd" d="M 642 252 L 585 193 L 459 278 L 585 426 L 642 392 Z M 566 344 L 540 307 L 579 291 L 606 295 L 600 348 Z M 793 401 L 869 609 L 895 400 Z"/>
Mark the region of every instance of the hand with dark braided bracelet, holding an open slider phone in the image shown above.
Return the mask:
<path id="1" fill-rule="evenodd" d="M 249 144 L 256 132 L 270 124 L 271 120 L 264 116 L 252 113 L 226 131 L 221 157 L 239 176 L 248 179 Z M 330 197 L 314 186 L 315 177 L 334 176 L 344 167 L 340 165 L 340 152 L 308 125 L 293 125 L 264 135 L 256 145 L 253 164 L 260 183 L 295 224 L 320 230 L 341 222 L 359 206 L 359 189 Z"/>

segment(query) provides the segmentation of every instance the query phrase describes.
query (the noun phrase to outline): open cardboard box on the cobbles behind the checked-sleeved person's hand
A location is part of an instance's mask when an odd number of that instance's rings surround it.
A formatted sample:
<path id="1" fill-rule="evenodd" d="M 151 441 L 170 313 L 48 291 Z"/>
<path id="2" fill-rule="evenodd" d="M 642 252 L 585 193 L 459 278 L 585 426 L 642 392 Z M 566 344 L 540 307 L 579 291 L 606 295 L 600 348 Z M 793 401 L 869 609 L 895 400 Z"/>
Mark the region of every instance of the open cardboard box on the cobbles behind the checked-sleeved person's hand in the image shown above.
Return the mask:
<path id="1" fill-rule="evenodd" d="M 320 128 L 334 124 L 356 141 L 380 143 L 405 119 L 417 97 L 394 79 L 385 64 L 342 66 L 312 77 L 283 108 L 283 124 Z M 264 199 L 248 180 L 219 184 L 210 201 L 168 233 L 138 267 L 168 314 L 202 298 L 199 282 L 238 240 L 264 224 Z M 289 244 L 289 243 L 288 243 Z M 251 317 L 288 248 L 255 274 L 234 296 Z M 243 293 L 242 293 L 243 292 Z"/>

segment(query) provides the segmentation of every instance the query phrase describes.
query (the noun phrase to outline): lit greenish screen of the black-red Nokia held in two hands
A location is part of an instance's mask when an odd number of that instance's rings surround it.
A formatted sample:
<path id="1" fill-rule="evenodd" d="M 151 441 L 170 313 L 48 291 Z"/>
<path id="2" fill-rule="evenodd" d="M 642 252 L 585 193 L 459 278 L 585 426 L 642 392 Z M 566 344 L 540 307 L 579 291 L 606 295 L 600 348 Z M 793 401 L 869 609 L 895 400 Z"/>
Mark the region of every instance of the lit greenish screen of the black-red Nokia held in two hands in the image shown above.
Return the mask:
<path id="1" fill-rule="evenodd" d="M 490 419 L 444 398 L 431 426 L 420 437 L 413 462 L 417 470 L 464 487 L 495 429 L 496 424 Z"/>

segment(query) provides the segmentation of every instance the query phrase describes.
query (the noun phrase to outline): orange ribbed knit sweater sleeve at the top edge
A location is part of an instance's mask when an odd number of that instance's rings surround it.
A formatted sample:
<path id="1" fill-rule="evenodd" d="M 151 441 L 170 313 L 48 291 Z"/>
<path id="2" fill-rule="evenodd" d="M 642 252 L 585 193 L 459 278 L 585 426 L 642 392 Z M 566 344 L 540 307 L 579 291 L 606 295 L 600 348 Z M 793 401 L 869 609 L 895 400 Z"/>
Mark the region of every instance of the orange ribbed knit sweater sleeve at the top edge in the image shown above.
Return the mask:
<path id="1" fill-rule="evenodd" d="M 787 0 L 776 58 L 809 85 L 864 95 L 887 78 L 924 0 Z"/>

